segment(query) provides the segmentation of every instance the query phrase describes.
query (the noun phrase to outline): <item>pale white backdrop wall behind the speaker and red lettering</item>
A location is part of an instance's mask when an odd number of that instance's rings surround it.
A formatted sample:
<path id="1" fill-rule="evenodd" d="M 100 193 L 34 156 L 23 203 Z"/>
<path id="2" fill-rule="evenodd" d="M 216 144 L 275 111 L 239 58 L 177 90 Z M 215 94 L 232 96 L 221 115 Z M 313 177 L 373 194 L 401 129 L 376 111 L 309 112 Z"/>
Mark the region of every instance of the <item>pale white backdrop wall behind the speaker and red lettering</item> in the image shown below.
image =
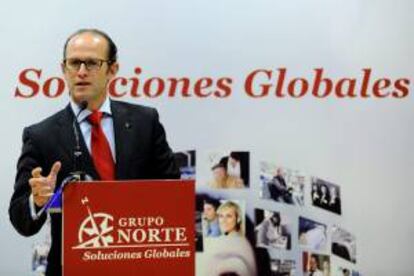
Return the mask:
<path id="1" fill-rule="evenodd" d="M 0 274 L 29 274 L 31 246 L 43 238 L 19 236 L 7 214 L 22 129 L 68 99 L 67 92 L 15 97 L 16 87 L 28 89 L 19 74 L 41 69 L 39 83 L 60 76 L 66 37 L 96 27 L 119 45 L 121 76 L 132 77 L 141 67 L 142 79 L 232 78 L 232 93 L 223 99 L 121 98 L 157 107 L 174 150 L 246 149 L 252 170 L 273 160 L 339 184 L 342 224 L 356 235 L 361 272 L 412 275 L 413 8 L 408 0 L 3 3 Z M 250 72 L 282 67 L 291 78 L 312 80 L 313 69 L 324 68 L 330 78 L 359 82 L 362 69 L 371 68 L 373 78 L 407 78 L 410 84 L 401 99 L 246 95 Z"/>

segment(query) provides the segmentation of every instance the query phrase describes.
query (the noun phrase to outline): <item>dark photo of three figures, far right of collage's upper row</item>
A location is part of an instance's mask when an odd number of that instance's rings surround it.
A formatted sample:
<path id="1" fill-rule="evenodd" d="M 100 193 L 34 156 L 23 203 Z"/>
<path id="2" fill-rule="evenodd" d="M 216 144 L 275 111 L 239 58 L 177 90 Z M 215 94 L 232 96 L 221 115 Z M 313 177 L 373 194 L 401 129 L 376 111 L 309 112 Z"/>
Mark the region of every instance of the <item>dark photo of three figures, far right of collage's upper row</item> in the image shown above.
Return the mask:
<path id="1" fill-rule="evenodd" d="M 341 214 L 340 188 L 325 180 L 312 178 L 311 198 L 313 206 Z"/>

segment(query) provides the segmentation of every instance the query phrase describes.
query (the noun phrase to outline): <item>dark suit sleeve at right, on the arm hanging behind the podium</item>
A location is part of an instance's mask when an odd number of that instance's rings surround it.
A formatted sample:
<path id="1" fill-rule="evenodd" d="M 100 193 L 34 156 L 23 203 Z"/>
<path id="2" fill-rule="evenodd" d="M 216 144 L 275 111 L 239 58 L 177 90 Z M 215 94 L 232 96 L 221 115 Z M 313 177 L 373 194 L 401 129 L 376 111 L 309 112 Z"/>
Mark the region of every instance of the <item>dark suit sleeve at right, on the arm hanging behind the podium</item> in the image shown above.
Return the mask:
<path id="1" fill-rule="evenodd" d="M 164 127 L 159 121 L 158 112 L 154 109 L 152 133 L 151 171 L 153 178 L 179 179 L 180 171 L 174 154 L 168 145 Z"/>

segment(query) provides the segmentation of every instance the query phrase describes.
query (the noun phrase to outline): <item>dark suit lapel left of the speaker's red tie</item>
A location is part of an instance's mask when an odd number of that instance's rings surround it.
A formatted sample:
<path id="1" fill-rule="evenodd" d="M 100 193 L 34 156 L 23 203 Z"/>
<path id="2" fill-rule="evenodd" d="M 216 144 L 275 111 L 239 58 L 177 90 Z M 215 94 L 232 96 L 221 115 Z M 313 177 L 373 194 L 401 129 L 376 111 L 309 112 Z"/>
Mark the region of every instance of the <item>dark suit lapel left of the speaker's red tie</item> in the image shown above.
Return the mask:
<path id="1" fill-rule="evenodd" d="M 75 134 L 73 132 L 72 122 L 74 120 L 74 114 L 70 107 L 70 104 L 66 106 L 65 112 L 63 112 L 62 117 L 59 120 L 60 126 L 60 141 L 61 146 L 64 150 L 65 155 L 68 157 L 68 160 L 71 160 L 71 164 L 69 166 L 70 171 L 73 170 L 73 152 L 75 149 L 76 141 L 75 141 Z M 95 170 L 93 165 L 92 158 L 89 154 L 88 148 L 86 147 L 85 140 L 83 138 L 82 132 L 79 128 L 79 124 L 76 124 L 76 128 L 79 133 L 79 143 L 80 148 L 82 151 L 82 156 L 80 158 L 80 168 L 86 172 L 86 174 L 90 175 L 93 179 L 98 180 L 99 175 Z"/>

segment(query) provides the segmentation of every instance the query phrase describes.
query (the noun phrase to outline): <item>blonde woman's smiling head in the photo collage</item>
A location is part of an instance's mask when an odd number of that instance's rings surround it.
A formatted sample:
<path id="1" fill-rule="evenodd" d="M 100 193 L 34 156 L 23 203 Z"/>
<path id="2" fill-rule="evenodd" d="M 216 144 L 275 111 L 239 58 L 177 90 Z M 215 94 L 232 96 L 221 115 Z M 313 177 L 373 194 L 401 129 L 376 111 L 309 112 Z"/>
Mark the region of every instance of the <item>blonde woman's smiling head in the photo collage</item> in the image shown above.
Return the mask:
<path id="1" fill-rule="evenodd" d="M 234 201 L 225 201 L 217 209 L 220 232 L 227 237 L 244 235 L 243 212 Z"/>

